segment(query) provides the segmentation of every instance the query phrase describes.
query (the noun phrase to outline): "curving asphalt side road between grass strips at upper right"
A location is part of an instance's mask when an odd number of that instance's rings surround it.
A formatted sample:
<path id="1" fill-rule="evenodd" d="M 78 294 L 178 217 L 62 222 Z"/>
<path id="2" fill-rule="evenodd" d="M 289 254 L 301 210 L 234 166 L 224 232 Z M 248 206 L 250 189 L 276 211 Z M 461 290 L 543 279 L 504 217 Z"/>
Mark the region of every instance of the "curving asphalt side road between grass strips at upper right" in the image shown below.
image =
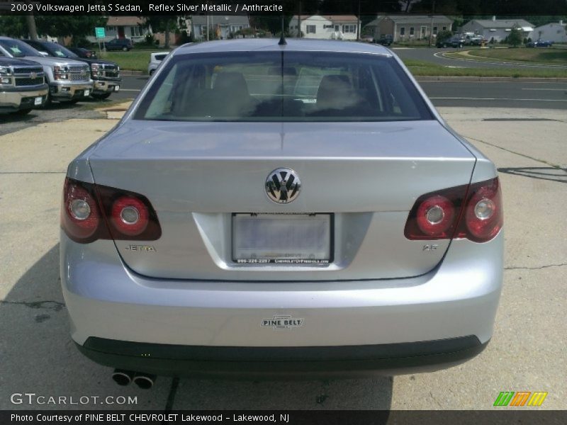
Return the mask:
<path id="1" fill-rule="evenodd" d="M 393 48 L 393 51 L 401 59 L 412 59 L 420 60 L 424 62 L 433 62 L 434 64 L 442 65 L 444 67 L 456 67 L 456 68 L 534 68 L 534 69 L 549 69 L 549 68 L 563 68 L 567 69 L 567 66 L 561 65 L 540 65 L 540 64 L 517 64 L 517 63 L 503 63 L 503 62 L 483 62 L 474 61 L 466 59 L 455 59 L 451 57 L 444 57 L 444 52 L 456 52 L 455 48 L 447 49 L 436 49 L 436 48 L 405 48 L 398 47 Z"/>

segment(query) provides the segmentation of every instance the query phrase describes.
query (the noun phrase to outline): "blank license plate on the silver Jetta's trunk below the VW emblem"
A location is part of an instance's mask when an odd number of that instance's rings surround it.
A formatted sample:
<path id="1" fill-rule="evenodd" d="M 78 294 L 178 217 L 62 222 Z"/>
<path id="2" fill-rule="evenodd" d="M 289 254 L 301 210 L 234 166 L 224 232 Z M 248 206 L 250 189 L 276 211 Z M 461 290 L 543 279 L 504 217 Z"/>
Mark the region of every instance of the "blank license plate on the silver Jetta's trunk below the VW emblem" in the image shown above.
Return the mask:
<path id="1" fill-rule="evenodd" d="M 330 214 L 233 214 L 232 261 L 330 263 L 331 223 Z"/>

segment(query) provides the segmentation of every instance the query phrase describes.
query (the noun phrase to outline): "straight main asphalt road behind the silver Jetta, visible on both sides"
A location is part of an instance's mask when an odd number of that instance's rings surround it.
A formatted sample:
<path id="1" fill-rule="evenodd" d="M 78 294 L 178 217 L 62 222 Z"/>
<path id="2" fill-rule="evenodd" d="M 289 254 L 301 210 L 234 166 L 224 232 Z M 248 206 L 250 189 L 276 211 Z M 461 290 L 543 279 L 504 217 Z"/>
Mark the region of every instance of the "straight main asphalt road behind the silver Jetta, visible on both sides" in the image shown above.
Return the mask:
<path id="1" fill-rule="evenodd" d="M 123 77 L 123 90 L 111 99 L 134 98 L 146 82 L 144 76 Z M 420 81 L 420 85 L 434 106 L 567 109 L 567 83 Z"/>

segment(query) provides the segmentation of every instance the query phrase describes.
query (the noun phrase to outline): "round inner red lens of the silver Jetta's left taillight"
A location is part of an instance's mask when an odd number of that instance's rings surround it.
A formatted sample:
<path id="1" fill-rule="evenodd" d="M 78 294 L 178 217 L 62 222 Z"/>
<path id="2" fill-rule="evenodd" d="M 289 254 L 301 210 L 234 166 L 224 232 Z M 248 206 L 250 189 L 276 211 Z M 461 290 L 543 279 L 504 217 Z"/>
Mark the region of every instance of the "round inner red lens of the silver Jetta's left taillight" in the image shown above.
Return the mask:
<path id="1" fill-rule="evenodd" d="M 122 196 L 114 201 L 111 223 L 118 232 L 137 236 L 150 222 L 150 212 L 141 200 L 133 196 Z"/>

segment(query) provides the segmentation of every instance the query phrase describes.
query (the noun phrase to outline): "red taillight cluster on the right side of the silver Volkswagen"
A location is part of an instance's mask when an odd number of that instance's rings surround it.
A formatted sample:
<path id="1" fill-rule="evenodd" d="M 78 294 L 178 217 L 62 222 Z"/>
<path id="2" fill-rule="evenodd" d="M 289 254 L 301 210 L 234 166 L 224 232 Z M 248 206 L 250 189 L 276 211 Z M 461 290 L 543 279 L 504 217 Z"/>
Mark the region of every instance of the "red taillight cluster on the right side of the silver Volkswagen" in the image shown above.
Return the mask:
<path id="1" fill-rule="evenodd" d="M 410 211 L 404 234 L 417 240 L 455 237 L 487 242 L 502 225 L 502 192 L 497 177 L 420 196 Z"/>

